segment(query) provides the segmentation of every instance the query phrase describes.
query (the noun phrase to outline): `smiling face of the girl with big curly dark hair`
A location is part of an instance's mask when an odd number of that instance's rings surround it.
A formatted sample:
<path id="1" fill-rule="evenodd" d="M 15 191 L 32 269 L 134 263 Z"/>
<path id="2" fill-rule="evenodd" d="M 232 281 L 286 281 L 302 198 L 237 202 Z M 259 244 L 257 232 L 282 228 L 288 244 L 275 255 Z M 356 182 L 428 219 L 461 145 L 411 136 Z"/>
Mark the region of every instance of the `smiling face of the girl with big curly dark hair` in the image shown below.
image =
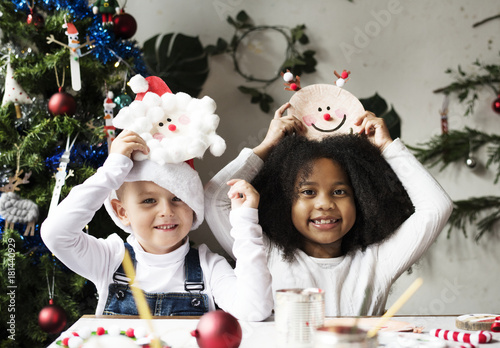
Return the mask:
<path id="1" fill-rule="evenodd" d="M 353 189 L 339 164 L 327 158 L 312 163 L 311 173 L 299 174 L 292 222 L 304 237 L 303 250 L 310 256 L 342 255 L 342 238 L 356 221 Z"/>

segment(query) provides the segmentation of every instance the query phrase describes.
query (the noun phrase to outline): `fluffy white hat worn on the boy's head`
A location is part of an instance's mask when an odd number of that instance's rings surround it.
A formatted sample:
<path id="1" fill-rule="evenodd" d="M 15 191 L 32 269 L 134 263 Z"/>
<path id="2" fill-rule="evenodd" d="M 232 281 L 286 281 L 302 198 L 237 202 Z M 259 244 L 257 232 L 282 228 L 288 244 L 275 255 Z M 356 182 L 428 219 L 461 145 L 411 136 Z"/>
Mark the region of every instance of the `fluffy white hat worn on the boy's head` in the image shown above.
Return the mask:
<path id="1" fill-rule="evenodd" d="M 151 160 L 134 161 L 134 166 L 125 178 L 125 182 L 152 181 L 172 192 L 194 211 L 191 230 L 198 228 L 204 219 L 203 185 L 198 172 L 187 163 L 167 163 L 160 165 Z M 125 226 L 116 215 L 111 200 L 117 199 L 113 191 L 104 202 L 106 210 L 115 224 L 127 233 L 132 233 L 130 226 Z"/>

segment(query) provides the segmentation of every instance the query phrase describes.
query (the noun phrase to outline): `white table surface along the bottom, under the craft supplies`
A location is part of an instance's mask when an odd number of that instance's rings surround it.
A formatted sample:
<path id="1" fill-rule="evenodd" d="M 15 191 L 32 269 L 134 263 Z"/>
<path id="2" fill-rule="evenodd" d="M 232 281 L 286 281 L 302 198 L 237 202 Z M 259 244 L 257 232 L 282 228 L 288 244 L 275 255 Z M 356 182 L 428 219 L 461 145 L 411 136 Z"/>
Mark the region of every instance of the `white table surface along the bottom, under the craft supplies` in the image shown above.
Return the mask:
<path id="1" fill-rule="evenodd" d="M 429 338 L 429 330 L 433 328 L 457 330 L 455 319 L 457 316 L 396 316 L 393 321 L 410 323 L 414 327 L 423 327 L 422 334 L 381 332 L 379 334 L 380 347 L 403 347 L 398 345 L 399 336 L 404 337 L 422 337 Z M 371 317 L 375 320 L 374 317 Z M 327 318 L 326 320 L 328 320 Z M 153 325 L 156 333 L 167 342 L 172 348 L 197 348 L 196 339 L 190 335 L 190 332 L 196 328 L 198 317 L 155 317 Z M 129 316 L 93 316 L 84 315 L 75 322 L 68 331 L 77 331 L 80 328 L 87 327 L 95 331 L 97 327 L 102 326 L 105 329 L 117 325 L 121 330 L 128 328 L 137 328 L 143 326 L 147 328 L 144 320 Z M 240 325 L 243 331 L 243 340 L 240 348 L 274 348 L 277 347 L 276 331 L 272 318 L 264 322 L 242 322 Z M 457 330 L 461 331 L 461 330 Z M 57 341 L 57 340 L 56 340 Z M 395 343 L 396 342 L 396 343 Z M 445 341 L 442 341 L 445 342 Z M 449 342 L 449 347 L 458 347 L 459 345 Z M 56 342 L 53 342 L 49 348 L 60 348 Z M 420 345 L 420 347 L 431 347 L 431 345 Z M 488 344 L 481 344 L 484 348 L 500 348 L 500 333 L 493 333 L 493 341 Z"/>

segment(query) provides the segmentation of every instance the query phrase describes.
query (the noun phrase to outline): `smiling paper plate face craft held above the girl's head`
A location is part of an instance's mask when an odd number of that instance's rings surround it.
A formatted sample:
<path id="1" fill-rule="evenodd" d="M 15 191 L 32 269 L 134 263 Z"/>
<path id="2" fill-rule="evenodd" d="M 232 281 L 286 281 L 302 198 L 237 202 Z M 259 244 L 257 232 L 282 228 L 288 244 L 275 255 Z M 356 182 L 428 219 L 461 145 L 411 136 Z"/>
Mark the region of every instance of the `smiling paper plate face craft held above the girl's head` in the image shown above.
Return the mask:
<path id="1" fill-rule="evenodd" d="M 289 71 L 282 74 L 285 89 L 295 91 L 290 98 L 288 115 L 302 121 L 306 126 L 304 135 L 309 139 L 352 133 L 355 119 L 365 113 L 358 98 L 342 88 L 350 72 L 334 73 L 335 85 L 315 84 L 303 88 L 299 76 L 294 78 Z"/>

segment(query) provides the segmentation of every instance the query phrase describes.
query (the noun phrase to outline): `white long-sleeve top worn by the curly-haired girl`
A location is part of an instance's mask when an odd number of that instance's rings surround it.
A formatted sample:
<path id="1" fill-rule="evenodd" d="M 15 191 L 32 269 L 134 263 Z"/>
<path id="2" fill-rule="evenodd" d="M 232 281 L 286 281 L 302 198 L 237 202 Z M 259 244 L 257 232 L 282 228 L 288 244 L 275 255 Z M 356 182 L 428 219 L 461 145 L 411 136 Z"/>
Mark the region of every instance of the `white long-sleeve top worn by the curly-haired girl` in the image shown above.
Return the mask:
<path id="1" fill-rule="evenodd" d="M 434 242 L 448 221 L 452 202 L 399 139 L 384 150 L 383 156 L 408 192 L 415 212 L 383 243 L 336 258 L 314 258 L 298 250 L 294 260 L 286 262 L 281 252 L 265 239 L 274 292 L 286 288 L 321 288 L 325 291 L 327 316 L 359 315 L 363 306 L 364 315 L 384 312 L 391 285 Z M 229 233 L 230 202 L 225 183 L 232 178 L 251 181 L 262 165 L 252 150 L 244 149 L 205 185 L 205 218 L 230 255 L 234 256 L 231 253 L 234 240 Z"/>

